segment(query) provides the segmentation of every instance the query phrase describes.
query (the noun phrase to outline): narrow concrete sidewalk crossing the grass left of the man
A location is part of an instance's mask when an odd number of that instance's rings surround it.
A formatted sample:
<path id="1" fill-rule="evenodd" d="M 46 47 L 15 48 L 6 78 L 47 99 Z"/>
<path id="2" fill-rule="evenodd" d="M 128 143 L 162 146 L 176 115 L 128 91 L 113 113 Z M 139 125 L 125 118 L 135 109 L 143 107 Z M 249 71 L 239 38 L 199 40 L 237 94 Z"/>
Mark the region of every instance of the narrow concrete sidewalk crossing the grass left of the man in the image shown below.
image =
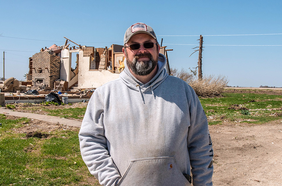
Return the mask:
<path id="1" fill-rule="evenodd" d="M 56 116 L 33 114 L 33 113 L 28 113 L 28 112 L 16 112 L 16 111 L 12 111 L 9 109 L 1 109 L 1 108 L 0 108 L 0 114 L 18 116 L 18 117 L 26 117 L 30 119 L 38 119 L 38 120 L 44 121 L 49 124 L 57 124 L 59 122 L 60 124 L 63 124 L 63 125 L 81 127 L 81 121 L 64 119 L 64 118 L 59 118 Z"/>

